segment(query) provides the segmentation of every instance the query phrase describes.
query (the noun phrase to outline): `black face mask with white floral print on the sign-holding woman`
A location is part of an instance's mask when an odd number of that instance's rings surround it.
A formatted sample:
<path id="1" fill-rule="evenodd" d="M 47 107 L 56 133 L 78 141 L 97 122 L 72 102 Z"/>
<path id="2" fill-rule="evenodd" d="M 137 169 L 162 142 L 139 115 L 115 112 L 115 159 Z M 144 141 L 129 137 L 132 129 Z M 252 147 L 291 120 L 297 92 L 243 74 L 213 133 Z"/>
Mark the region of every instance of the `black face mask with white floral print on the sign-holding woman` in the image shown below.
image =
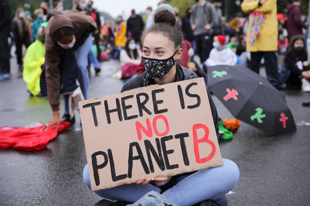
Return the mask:
<path id="1" fill-rule="evenodd" d="M 156 79 L 167 74 L 175 64 L 176 60 L 174 60 L 173 57 L 178 51 L 179 49 L 167 59 L 151 59 L 142 57 L 143 66 L 145 67 L 148 76 L 152 79 Z"/>

